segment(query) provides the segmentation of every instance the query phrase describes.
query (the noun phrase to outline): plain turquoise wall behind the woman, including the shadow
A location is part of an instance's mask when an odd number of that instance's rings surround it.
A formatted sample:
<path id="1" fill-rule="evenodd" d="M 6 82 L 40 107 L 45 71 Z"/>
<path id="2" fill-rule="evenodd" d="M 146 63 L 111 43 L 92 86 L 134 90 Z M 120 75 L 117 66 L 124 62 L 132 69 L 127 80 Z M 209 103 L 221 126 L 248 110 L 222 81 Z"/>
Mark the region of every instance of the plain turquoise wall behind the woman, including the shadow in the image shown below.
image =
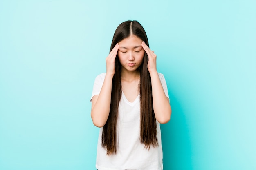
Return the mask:
<path id="1" fill-rule="evenodd" d="M 93 170 L 94 78 L 144 26 L 173 109 L 164 170 L 256 169 L 255 0 L 1 0 L 0 170 Z"/>

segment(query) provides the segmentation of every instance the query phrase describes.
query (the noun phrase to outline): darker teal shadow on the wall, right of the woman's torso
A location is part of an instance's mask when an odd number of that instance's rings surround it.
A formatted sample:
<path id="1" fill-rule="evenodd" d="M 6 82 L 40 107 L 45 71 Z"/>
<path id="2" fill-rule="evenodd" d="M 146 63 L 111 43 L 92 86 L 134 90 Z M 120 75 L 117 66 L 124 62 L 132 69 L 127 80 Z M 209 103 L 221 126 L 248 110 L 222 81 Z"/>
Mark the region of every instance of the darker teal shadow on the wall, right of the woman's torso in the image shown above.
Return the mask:
<path id="1" fill-rule="evenodd" d="M 161 124 L 164 170 L 192 170 L 191 143 L 180 103 L 169 92 L 171 120 Z"/>

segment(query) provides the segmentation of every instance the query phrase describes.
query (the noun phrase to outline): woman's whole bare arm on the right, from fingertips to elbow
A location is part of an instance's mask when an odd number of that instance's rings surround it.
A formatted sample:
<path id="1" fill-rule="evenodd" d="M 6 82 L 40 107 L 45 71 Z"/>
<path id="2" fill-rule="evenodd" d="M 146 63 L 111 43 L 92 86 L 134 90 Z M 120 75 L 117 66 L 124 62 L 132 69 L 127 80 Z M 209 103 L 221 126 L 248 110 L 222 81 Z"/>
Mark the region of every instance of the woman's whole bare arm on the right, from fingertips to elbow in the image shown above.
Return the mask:
<path id="1" fill-rule="evenodd" d="M 148 71 L 151 77 L 152 97 L 155 118 L 160 124 L 166 124 L 171 118 L 171 106 L 168 97 L 164 93 L 164 89 L 159 79 L 156 69 L 156 55 L 149 47 L 142 42 L 142 47 L 148 54 Z"/>

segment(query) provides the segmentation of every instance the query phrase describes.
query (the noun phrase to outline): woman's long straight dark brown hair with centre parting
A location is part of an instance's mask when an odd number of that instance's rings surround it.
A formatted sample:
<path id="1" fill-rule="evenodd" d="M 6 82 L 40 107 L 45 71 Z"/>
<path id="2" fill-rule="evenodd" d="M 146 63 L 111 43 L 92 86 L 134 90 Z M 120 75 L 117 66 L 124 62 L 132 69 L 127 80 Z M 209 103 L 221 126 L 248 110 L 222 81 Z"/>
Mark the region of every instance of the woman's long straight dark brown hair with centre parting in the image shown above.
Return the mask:
<path id="1" fill-rule="evenodd" d="M 114 46 L 130 35 L 135 35 L 144 41 L 148 46 L 148 38 L 144 28 L 137 21 L 126 21 L 121 23 L 113 36 L 110 51 Z M 155 113 L 153 110 L 152 86 L 151 77 L 148 72 L 148 55 L 145 52 L 140 70 L 140 142 L 145 144 L 146 148 L 158 146 L 157 141 L 157 126 Z M 121 99 L 121 64 L 118 56 L 115 58 L 115 75 L 112 80 L 110 112 L 106 124 L 103 126 L 101 145 L 107 149 L 107 155 L 117 152 L 117 117 L 118 106 Z"/>

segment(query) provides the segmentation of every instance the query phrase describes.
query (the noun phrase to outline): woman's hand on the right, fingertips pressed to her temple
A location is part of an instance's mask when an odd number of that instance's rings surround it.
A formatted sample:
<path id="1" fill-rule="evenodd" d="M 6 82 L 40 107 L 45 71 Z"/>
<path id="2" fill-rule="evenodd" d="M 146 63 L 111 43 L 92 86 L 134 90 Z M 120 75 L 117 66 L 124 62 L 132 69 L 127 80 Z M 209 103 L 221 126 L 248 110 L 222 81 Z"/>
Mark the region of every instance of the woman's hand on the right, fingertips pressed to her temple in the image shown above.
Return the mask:
<path id="1" fill-rule="evenodd" d="M 154 51 L 150 50 L 147 44 L 143 41 L 141 46 L 148 54 L 148 71 L 149 73 L 157 72 L 157 55 L 155 55 Z"/>

